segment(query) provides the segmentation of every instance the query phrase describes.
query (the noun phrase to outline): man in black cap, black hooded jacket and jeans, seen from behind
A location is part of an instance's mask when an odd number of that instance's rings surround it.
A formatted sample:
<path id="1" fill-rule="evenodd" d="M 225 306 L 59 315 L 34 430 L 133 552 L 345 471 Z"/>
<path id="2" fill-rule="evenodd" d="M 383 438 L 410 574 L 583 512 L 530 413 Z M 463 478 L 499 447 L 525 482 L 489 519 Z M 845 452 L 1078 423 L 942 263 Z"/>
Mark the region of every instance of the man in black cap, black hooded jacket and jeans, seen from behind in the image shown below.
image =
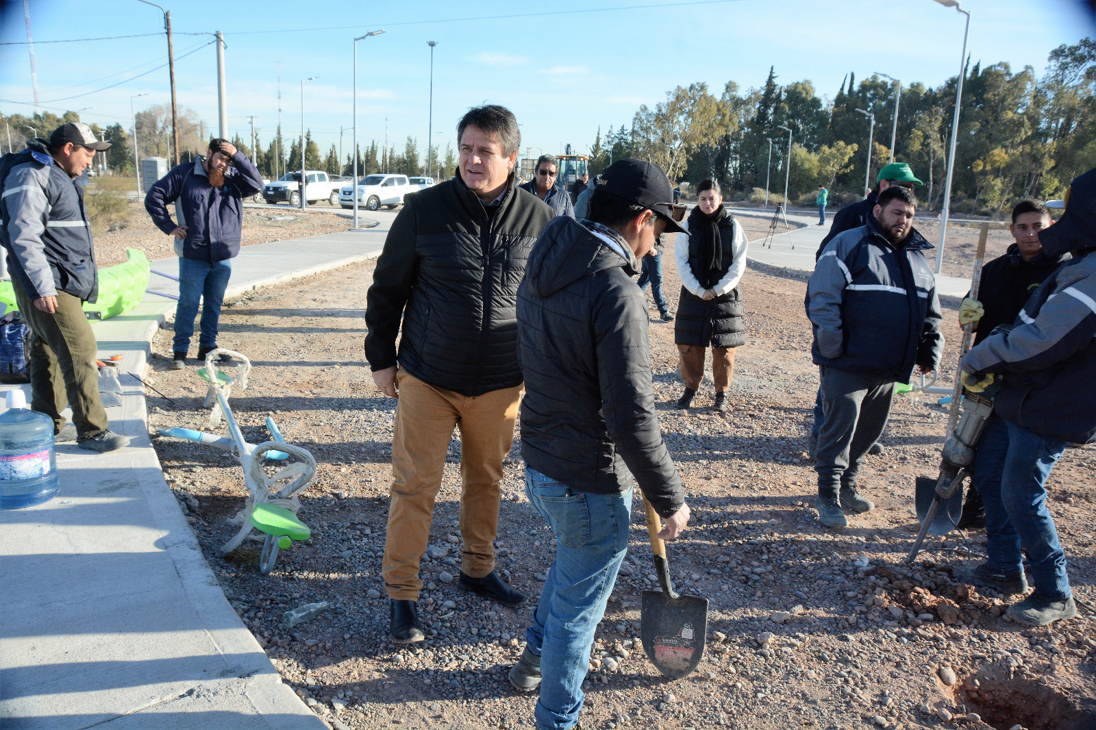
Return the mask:
<path id="1" fill-rule="evenodd" d="M 594 629 L 628 548 L 635 477 L 673 539 L 688 522 L 654 412 L 647 303 L 632 276 L 664 231 L 685 232 L 665 173 L 637 159 L 600 176 L 585 220 L 557 217 L 517 292 L 525 493 L 556 561 L 510 681 L 540 687 L 536 726 L 572 728 Z"/>

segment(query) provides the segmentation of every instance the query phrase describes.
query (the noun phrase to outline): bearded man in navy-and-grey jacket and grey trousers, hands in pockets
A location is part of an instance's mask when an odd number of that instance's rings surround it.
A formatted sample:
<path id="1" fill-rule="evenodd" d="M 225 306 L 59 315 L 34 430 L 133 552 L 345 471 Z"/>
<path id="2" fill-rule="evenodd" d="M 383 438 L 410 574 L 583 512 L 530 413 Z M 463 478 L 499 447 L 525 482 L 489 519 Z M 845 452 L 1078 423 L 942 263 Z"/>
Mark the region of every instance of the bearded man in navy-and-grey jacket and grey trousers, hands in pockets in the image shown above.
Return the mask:
<path id="1" fill-rule="evenodd" d="M 856 477 L 887 425 L 894 385 L 909 383 L 914 365 L 932 373 L 940 358 L 940 303 L 924 253 L 933 247 L 913 228 L 916 208 L 912 191 L 884 190 L 866 225 L 826 244 L 807 285 L 811 354 L 822 374 L 814 469 L 826 527 L 848 525 L 842 507 L 875 507 Z"/>

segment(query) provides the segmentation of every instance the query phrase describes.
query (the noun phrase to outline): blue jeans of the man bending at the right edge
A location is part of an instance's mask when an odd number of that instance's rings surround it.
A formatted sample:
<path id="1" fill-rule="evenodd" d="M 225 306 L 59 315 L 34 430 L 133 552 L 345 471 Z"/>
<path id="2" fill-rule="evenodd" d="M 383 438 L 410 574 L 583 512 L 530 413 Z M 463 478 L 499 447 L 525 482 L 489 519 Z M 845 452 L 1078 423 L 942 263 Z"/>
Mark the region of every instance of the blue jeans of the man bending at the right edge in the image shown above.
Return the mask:
<path id="1" fill-rule="evenodd" d="M 1040 436 L 993 418 L 978 443 L 971 481 L 985 503 L 989 564 L 1006 573 L 1024 569 L 1020 547 L 1031 560 L 1036 593 L 1064 601 L 1072 595 L 1065 552 L 1047 510 L 1044 484 L 1065 442 Z"/>

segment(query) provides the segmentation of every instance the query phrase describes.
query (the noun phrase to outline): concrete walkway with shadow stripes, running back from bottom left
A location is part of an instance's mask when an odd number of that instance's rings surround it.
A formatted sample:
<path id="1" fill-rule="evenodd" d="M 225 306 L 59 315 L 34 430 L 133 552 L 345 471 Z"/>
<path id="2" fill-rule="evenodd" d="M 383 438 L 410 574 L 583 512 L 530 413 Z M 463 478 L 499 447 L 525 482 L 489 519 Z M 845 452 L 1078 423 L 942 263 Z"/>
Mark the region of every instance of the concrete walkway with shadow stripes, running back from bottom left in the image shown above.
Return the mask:
<path id="1" fill-rule="evenodd" d="M 370 217 L 381 225 L 367 232 L 244 247 L 229 293 L 376 256 L 395 214 Z M 176 260 L 152 267 L 174 273 Z M 150 288 L 176 290 L 170 280 L 152 280 Z M 132 445 L 103 455 L 58 446 L 60 493 L 0 512 L 4 730 L 326 727 L 282 684 L 225 598 L 149 440 L 137 378 L 174 306 L 146 295 L 135 310 L 93 324 L 100 356 L 124 355 L 124 404 L 107 415 Z"/>

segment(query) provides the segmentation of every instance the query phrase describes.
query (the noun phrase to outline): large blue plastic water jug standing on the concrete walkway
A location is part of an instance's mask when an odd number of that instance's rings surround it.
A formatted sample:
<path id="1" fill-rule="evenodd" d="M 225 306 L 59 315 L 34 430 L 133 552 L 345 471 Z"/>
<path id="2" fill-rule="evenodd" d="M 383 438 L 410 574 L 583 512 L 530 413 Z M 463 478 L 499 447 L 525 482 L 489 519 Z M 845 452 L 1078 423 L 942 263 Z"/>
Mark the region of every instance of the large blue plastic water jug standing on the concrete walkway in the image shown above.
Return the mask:
<path id="1" fill-rule="evenodd" d="M 57 495 L 54 420 L 26 407 L 22 390 L 9 390 L 0 413 L 0 510 L 48 502 Z"/>

